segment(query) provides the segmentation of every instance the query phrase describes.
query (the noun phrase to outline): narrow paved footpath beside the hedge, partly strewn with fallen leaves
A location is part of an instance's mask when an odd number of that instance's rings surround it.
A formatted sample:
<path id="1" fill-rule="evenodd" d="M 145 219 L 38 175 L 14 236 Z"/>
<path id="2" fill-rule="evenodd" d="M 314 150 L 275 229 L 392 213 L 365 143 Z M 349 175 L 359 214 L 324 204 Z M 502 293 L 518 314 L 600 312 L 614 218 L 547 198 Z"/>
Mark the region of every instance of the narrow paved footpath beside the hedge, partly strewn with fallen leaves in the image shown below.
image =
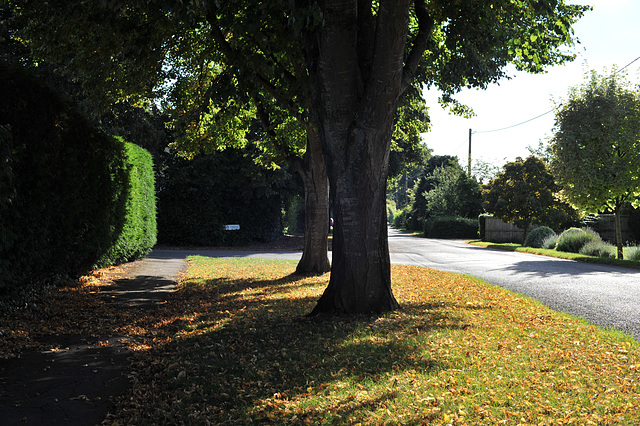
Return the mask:
<path id="1" fill-rule="evenodd" d="M 183 259 L 143 259 L 99 294 L 119 309 L 153 309 L 175 288 Z M 52 348 L 0 360 L 0 423 L 97 425 L 129 388 L 126 336 L 50 335 Z"/>

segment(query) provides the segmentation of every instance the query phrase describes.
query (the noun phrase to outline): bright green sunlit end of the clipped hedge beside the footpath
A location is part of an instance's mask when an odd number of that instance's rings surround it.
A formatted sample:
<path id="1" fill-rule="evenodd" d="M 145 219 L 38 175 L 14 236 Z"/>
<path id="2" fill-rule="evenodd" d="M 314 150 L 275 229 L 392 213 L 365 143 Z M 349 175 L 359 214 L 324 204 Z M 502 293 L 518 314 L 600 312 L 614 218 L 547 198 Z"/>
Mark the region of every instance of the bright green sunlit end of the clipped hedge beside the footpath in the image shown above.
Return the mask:
<path id="1" fill-rule="evenodd" d="M 156 244 L 156 194 L 153 158 L 149 151 L 125 143 L 125 164 L 129 179 L 126 216 L 116 242 L 98 266 L 117 265 L 139 259 Z"/>

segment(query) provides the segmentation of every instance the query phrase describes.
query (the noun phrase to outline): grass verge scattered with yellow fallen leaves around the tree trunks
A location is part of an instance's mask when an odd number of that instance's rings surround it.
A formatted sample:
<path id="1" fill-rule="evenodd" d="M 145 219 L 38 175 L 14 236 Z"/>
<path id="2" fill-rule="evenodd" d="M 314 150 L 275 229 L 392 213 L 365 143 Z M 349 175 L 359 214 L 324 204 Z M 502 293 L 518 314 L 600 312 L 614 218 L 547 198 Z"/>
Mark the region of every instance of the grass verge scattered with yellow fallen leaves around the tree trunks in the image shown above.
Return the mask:
<path id="1" fill-rule="evenodd" d="M 392 267 L 402 308 L 307 320 L 328 275 L 194 257 L 117 424 L 633 424 L 638 342 L 481 280 Z"/>

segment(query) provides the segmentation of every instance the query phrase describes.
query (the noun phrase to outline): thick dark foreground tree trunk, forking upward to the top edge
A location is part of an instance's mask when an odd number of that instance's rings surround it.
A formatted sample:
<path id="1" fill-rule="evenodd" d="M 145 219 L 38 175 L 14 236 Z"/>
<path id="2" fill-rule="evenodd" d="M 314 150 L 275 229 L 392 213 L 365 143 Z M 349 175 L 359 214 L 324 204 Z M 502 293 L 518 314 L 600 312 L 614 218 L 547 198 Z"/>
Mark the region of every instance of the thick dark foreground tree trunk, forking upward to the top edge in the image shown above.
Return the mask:
<path id="1" fill-rule="evenodd" d="M 320 2 L 324 24 L 307 40 L 313 112 L 335 220 L 331 279 L 312 315 L 398 306 L 391 291 L 385 199 L 409 2 L 381 1 L 375 25 L 366 4 Z"/>

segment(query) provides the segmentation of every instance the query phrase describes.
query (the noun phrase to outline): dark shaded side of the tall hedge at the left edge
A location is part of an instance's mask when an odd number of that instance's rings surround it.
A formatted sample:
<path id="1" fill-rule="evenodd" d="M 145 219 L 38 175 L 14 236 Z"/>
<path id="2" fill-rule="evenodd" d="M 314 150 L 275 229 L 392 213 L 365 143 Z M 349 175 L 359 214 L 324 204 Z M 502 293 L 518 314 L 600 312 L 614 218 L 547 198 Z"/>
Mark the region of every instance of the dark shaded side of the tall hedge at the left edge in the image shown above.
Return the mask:
<path id="1" fill-rule="evenodd" d="M 123 144 L 0 64 L 0 293 L 90 269 L 122 229 Z"/>

